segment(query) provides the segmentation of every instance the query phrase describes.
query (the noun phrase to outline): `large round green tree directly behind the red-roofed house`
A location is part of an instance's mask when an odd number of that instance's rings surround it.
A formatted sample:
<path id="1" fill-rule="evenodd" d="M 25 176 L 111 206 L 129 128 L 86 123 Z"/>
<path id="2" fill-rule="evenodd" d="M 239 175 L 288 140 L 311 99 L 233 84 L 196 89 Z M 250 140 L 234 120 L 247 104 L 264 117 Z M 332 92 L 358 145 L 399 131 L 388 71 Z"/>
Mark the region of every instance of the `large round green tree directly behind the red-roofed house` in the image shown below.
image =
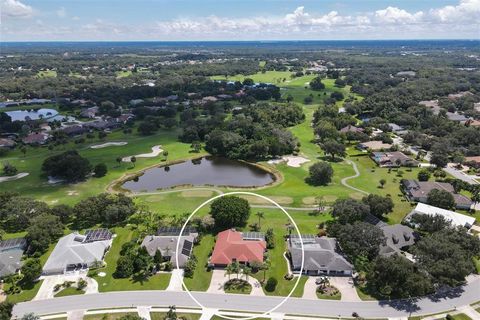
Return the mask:
<path id="1" fill-rule="evenodd" d="M 214 200 L 210 214 L 215 225 L 221 228 L 244 227 L 250 216 L 248 201 L 236 196 L 225 196 Z"/>

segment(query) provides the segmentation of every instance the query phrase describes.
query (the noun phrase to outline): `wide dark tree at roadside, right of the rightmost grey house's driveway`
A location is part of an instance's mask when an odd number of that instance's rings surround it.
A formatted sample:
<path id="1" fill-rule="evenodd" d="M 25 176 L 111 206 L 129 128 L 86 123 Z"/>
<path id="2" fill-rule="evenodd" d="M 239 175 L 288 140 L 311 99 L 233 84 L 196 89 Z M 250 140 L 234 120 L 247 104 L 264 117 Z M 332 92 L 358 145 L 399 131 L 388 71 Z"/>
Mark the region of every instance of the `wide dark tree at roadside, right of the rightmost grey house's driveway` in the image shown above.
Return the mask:
<path id="1" fill-rule="evenodd" d="M 431 278 L 401 255 L 377 257 L 367 273 L 367 284 L 373 292 L 388 298 L 425 296 L 433 291 Z"/>

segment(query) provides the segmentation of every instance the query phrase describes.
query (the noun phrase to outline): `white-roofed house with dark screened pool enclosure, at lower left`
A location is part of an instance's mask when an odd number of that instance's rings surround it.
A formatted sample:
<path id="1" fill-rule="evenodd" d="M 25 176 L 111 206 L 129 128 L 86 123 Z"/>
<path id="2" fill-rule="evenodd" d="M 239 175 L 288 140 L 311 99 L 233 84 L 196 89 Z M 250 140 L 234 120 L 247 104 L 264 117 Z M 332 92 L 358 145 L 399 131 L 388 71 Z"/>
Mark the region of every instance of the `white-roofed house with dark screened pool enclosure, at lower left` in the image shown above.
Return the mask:
<path id="1" fill-rule="evenodd" d="M 112 245 L 112 233 L 107 229 L 88 230 L 85 235 L 71 233 L 58 240 L 43 266 L 43 274 L 64 274 L 86 271 L 101 263 Z"/>

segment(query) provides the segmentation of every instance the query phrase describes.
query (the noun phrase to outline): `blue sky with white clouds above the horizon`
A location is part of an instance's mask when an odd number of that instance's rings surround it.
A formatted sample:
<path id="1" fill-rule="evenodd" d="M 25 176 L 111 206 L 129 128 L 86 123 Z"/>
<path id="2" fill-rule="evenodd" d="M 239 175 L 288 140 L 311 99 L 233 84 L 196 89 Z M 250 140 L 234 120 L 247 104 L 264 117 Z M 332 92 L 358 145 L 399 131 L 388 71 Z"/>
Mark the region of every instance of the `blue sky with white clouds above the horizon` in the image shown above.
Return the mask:
<path id="1" fill-rule="evenodd" d="M 0 41 L 480 39 L 480 0 L 0 0 Z"/>

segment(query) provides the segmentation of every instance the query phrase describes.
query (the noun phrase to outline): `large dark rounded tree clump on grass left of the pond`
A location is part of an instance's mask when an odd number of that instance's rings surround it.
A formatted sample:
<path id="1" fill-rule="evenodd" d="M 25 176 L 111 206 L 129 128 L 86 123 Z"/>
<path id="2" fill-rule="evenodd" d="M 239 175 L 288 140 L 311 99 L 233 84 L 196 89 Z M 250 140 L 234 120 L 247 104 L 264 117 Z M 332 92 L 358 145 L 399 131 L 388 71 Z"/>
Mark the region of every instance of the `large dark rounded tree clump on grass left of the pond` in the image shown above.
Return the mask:
<path id="1" fill-rule="evenodd" d="M 92 171 L 92 166 L 88 159 L 80 156 L 77 151 L 70 150 L 45 159 L 42 170 L 48 176 L 74 182 L 84 180 Z"/>

